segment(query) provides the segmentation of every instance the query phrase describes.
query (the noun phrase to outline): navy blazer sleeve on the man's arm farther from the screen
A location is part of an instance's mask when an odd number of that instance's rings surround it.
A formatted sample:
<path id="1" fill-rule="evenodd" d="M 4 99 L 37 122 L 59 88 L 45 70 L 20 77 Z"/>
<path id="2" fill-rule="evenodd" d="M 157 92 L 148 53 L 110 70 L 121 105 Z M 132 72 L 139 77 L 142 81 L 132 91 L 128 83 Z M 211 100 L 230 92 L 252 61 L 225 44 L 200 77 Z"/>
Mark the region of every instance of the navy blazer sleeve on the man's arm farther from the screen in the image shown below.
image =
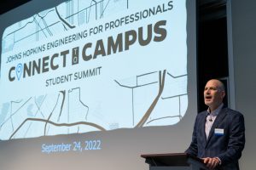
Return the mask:
<path id="1" fill-rule="evenodd" d="M 237 161 L 241 157 L 241 151 L 245 145 L 244 117 L 239 112 L 235 112 L 233 115 L 230 118 L 228 148 L 224 153 L 218 155 L 222 164 Z"/>

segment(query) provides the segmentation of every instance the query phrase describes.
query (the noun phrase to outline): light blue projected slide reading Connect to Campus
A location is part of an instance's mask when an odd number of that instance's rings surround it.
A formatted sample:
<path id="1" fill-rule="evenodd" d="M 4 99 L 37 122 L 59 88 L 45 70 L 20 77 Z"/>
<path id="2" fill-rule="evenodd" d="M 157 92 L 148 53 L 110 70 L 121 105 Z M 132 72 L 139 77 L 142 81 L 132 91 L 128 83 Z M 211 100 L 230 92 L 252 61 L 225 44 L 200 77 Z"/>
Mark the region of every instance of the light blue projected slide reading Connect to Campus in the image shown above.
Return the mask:
<path id="1" fill-rule="evenodd" d="M 3 32 L 0 139 L 168 126 L 188 107 L 185 0 L 71 0 Z"/>

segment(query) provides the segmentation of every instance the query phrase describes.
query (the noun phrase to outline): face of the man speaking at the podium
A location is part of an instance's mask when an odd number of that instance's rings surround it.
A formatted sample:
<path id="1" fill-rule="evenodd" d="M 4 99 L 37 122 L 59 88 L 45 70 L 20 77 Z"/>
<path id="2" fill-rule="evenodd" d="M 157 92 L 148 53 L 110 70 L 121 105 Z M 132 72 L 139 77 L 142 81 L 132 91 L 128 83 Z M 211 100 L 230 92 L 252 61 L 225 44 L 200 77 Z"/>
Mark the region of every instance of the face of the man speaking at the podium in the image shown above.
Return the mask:
<path id="1" fill-rule="evenodd" d="M 221 82 L 218 80 L 210 80 L 207 82 L 207 85 L 204 90 L 205 104 L 208 105 L 211 111 L 218 108 L 224 99 L 224 90 L 221 90 L 219 87 Z"/>

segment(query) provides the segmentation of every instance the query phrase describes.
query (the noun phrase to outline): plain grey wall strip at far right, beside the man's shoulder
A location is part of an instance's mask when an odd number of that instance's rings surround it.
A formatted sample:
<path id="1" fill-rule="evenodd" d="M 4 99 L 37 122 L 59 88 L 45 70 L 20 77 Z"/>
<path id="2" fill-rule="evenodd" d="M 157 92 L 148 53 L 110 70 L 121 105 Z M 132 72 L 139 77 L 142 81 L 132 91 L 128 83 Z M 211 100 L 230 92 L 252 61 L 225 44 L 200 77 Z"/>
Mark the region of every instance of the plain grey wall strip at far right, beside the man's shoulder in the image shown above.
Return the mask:
<path id="1" fill-rule="evenodd" d="M 231 21 L 236 110 L 245 116 L 246 147 L 241 170 L 255 169 L 256 1 L 232 0 Z"/>

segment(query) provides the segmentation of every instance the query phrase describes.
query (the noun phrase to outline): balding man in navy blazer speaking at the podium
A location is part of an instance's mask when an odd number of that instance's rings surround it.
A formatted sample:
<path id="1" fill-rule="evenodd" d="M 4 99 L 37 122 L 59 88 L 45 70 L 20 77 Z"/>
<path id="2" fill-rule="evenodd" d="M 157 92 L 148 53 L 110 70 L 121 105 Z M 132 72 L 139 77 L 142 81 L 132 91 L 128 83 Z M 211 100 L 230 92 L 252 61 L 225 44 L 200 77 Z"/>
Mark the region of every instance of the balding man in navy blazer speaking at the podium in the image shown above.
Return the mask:
<path id="1" fill-rule="evenodd" d="M 212 79 L 204 90 L 207 111 L 196 116 L 192 142 L 186 153 L 200 157 L 209 169 L 239 170 L 245 144 L 244 118 L 223 104 L 224 84 Z"/>

